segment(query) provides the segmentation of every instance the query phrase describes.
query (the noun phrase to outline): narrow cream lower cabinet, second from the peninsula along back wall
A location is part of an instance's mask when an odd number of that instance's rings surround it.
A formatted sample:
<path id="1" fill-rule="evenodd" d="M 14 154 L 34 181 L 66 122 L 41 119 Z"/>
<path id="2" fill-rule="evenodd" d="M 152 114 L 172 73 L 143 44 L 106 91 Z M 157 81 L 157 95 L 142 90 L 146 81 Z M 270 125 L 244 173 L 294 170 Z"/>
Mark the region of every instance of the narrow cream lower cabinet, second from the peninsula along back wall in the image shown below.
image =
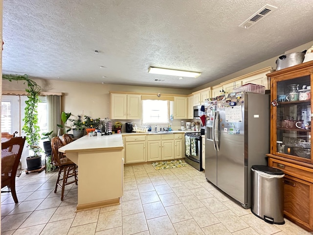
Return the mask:
<path id="1" fill-rule="evenodd" d="M 148 162 L 162 160 L 161 135 L 147 136 Z"/>

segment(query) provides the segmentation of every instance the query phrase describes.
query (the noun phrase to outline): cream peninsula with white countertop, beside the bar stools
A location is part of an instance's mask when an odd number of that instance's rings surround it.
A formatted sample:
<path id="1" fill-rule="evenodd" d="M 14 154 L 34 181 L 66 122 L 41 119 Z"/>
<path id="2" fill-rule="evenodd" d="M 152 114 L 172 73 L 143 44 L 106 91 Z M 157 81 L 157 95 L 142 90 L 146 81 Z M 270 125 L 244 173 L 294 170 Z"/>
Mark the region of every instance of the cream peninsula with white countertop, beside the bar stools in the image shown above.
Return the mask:
<path id="1" fill-rule="evenodd" d="M 59 149 L 78 165 L 76 211 L 116 205 L 123 194 L 121 134 L 84 136 Z"/>

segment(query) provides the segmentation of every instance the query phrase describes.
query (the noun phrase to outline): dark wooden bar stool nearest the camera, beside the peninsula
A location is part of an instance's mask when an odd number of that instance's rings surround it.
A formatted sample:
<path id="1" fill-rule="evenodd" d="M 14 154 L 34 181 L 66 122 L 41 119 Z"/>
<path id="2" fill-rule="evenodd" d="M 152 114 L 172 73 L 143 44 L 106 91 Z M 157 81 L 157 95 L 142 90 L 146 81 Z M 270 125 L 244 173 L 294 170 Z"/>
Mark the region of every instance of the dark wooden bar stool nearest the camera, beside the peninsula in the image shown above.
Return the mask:
<path id="1" fill-rule="evenodd" d="M 64 143 L 59 137 L 53 137 L 51 139 L 51 148 L 52 148 L 52 159 L 51 162 L 53 165 L 59 167 L 59 173 L 57 182 L 55 184 L 54 192 L 57 192 L 57 188 L 62 188 L 61 191 L 61 201 L 64 198 L 64 189 L 65 186 L 75 183 L 77 185 L 77 171 L 76 164 L 70 161 L 65 154 L 59 152 L 59 148 L 63 147 Z M 72 181 L 68 181 L 69 178 L 73 177 Z"/>

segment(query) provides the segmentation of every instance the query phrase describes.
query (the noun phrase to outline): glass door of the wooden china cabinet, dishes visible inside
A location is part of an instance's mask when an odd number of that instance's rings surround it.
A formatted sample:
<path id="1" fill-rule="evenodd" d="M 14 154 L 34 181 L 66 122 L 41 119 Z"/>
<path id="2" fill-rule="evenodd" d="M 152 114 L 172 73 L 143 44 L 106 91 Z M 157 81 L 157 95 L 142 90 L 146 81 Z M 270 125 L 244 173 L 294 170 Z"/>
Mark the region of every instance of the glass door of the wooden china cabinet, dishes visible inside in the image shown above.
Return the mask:
<path id="1" fill-rule="evenodd" d="M 310 76 L 279 81 L 276 88 L 276 155 L 311 162 Z"/>

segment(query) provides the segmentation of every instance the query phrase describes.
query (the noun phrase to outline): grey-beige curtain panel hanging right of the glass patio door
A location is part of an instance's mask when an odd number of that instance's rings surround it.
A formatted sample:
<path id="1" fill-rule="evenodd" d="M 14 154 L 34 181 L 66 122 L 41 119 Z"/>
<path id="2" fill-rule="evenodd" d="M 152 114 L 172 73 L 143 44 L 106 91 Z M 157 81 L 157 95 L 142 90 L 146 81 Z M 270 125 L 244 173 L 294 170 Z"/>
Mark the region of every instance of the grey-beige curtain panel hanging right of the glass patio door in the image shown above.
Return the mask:
<path id="1" fill-rule="evenodd" d="M 61 120 L 61 96 L 47 95 L 48 130 L 53 130 L 52 136 L 57 136 Z"/>

